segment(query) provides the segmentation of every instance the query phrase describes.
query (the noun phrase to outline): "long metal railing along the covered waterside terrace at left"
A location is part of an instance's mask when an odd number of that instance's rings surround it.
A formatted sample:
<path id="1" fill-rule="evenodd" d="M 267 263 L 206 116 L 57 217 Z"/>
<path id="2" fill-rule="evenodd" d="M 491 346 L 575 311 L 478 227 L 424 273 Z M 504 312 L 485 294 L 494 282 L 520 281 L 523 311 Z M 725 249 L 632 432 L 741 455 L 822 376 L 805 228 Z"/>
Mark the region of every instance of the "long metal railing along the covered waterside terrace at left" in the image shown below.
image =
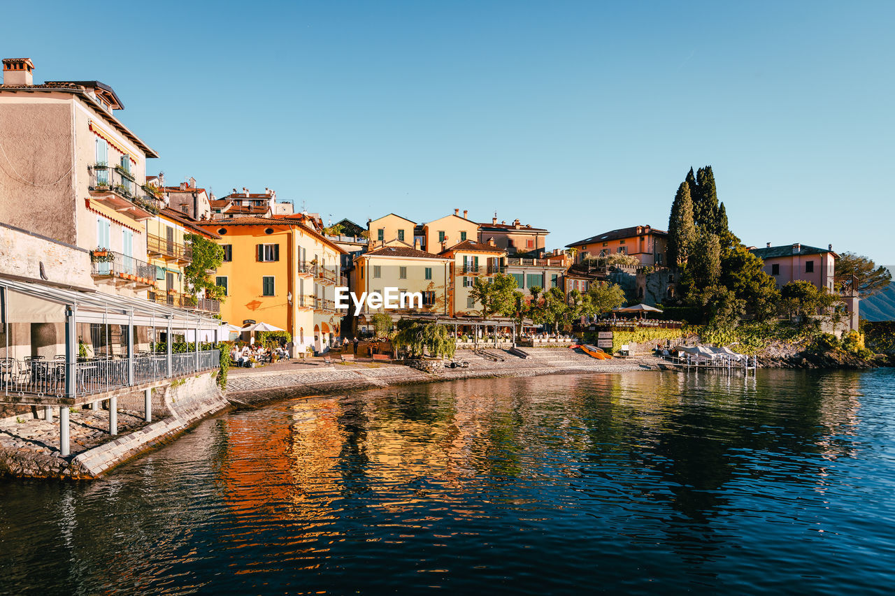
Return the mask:
<path id="1" fill-rule="evenodd" d="M 198 362 L 197 362 L 198 360 Z M 219 350 L 171 354 L 171 377 L 189 375 L 200 370 L 216 369 Z M 0 358 L 0 387 L 5 395 L 36 394 L 64 396 L 67 365 L 64 360 L 40 358 Z M 140 354 L 132 358 L 94 358 L 72 362 L 76 395 L 103 393 L 154 380 L 167 379 L 167 356 L 164 353 Z M 132 378 L 131 378 L 132 369 Z"/>

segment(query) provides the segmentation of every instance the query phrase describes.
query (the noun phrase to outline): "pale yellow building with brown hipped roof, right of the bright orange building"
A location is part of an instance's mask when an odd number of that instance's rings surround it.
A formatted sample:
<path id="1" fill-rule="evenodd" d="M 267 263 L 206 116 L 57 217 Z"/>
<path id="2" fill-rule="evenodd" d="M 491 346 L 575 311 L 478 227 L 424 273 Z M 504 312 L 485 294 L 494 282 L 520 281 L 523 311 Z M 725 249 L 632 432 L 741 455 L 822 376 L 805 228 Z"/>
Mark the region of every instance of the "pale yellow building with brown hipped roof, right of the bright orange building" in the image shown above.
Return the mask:
<path id="1" fill-rule="evenodd" d="M 356 257 L 351 271 L 351 288 L 358 298 L 362 293 L 384 294 L 388 287 L 397 288 L 398 293 L 422 294 L 422 308 L 418 302 L 411 306 L 409 301 L 407 308 L 388 310 L 382 307 L 371 310 L 364 304 L 358 317 L 358 328 L 370 330 L 371 316 L 375 312 L 386 312 L 392 319 L 408 314 L 449 314 L 450 265 L 451 260 L 447 257 L 405 246 L 386 246 Z M 350 311 L 354 314 L 354 304 Z"/>

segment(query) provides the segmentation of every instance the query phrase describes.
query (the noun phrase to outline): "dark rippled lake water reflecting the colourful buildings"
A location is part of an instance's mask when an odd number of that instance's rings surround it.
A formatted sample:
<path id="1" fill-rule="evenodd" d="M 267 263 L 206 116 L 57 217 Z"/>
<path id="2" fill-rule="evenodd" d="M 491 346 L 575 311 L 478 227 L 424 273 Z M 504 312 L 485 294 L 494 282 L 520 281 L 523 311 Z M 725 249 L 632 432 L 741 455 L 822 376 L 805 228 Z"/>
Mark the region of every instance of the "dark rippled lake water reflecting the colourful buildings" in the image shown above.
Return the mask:
<path id="1" fill-rule="evenodd" d="M 889 592 L 895 371 L 491 379 L 0 480 L 0 592 Z"/>

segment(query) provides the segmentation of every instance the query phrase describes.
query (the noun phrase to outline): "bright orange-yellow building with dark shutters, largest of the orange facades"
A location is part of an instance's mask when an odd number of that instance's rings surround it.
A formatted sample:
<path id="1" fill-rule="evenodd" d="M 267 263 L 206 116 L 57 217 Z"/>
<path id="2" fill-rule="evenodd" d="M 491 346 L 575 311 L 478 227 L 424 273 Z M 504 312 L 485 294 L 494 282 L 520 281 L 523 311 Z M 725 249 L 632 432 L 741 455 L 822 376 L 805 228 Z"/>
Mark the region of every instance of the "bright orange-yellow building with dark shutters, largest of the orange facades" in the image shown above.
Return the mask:
<path id="1" fill-rule="evenodd" d="M 222 319 L 286 329 L 295 353 L 328 349 L 341 328 L 334 298 L 343 251 L 336 244 L 300 219 L 234 217 L 200 227 L 224 246 L 216 277 L 226 292 Z"/>

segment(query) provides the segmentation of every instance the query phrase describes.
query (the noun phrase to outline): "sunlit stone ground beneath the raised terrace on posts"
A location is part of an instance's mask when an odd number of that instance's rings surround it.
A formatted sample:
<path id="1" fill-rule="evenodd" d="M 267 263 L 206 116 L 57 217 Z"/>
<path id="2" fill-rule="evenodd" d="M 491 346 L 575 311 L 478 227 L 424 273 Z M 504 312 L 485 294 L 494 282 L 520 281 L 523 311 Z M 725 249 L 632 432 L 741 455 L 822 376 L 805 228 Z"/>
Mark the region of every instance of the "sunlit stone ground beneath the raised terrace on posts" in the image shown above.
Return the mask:
<path id="1" fill-rule="evenodd" d="M 0 447 L 13 450 L 27 449 L 33 453 L 59 457 L 58 410 L 53 408 L 54 417 L 49 422 L 43 418 L 32 418 L 31 414 L 0 421 Z M 43 408 L 39 408 L 38 411 L 43 415 Z M 145 425 L 143 413 L 118 410 L 119 435 L 139 430 Z M 109 434 L 107 410 L 74 408 L 69 413 L 68 427 L 72 456 L 115 438 Z"/>

